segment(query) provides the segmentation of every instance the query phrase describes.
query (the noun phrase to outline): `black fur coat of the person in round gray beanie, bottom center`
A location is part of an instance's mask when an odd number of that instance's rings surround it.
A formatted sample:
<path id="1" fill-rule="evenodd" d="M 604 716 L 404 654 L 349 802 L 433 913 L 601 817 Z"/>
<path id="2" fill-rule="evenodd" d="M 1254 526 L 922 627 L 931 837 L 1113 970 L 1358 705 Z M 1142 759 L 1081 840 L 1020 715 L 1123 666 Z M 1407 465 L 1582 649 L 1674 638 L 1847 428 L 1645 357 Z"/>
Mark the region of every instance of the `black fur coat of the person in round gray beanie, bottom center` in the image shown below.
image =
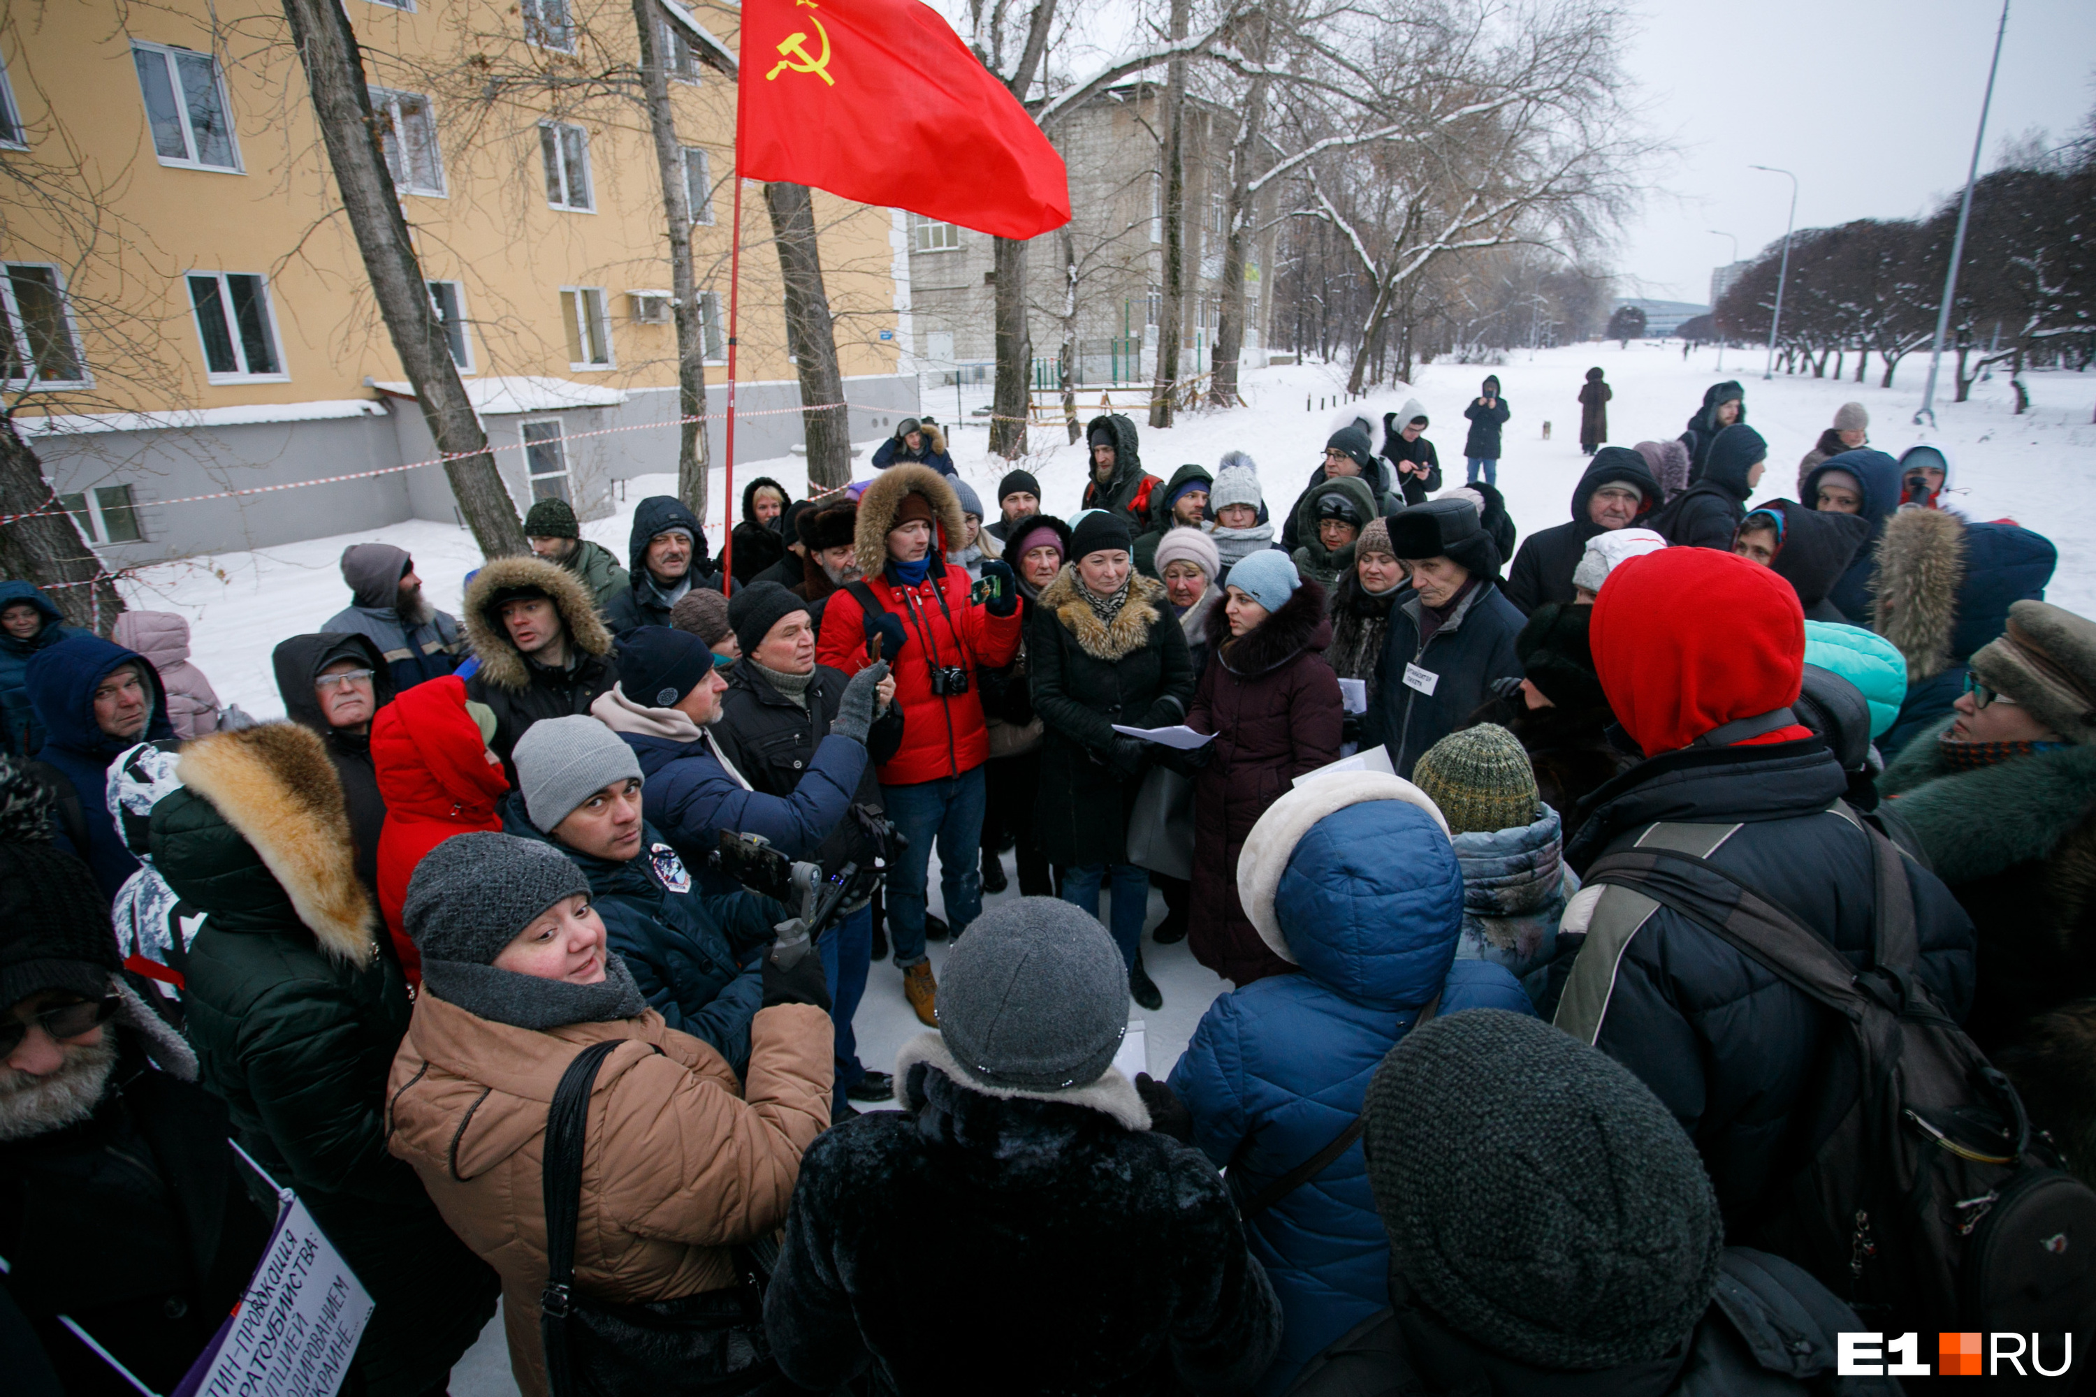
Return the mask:
<path id="1" fill-rule="evenodd" d="M 943 1049 L 903 1049 L 903 1110 L 847 1121 L 801 1156 L 765 1292 L 786 1376 L 830 1391 L 872 1370 L 885 1393 L 1249 1391 L 1281 1307 L 1214 1165 L 1140 1129 L 1126 1081 L 1086 1106 L 998 1100 L 922 1054 Z M 926 1326 L 933 1292 L 945 1320 Z"/>

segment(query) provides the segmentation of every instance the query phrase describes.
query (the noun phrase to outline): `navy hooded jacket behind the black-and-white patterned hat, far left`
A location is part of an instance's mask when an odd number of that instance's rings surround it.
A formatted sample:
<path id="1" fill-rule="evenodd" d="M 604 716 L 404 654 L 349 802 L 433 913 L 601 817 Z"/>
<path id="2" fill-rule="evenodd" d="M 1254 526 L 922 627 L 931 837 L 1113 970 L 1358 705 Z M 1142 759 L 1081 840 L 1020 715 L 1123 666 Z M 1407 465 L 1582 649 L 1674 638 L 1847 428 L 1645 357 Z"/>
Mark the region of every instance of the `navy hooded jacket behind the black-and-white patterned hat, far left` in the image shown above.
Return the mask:
<path id="1" fill-rule="evenodd" d="M 136 737 L 111 737 L 94 725 L 94 685 L 122 664 L 136 664 L 140 679 L 153 691 L 153 716 Z M 111 645 L 99 635 L 71 635 L 40 649 L 29 660 L 27 687 L 36 720 L 44 725 L 44 750 L 38 758 L 71 781 L 88 827 L 88 846 L 73 852 L 86 859 L 103 896 L 115 901 L 124 880 L 138 871 L 138 859 L 124 846 L 124 836 L 109 819 L 109 762 L 140 741 L 174 737 L 174 727 L 168 723 L 168 691 L 145 656 Z M 59 825 L 59 846 L 71 848 L 63 821 Z"/>

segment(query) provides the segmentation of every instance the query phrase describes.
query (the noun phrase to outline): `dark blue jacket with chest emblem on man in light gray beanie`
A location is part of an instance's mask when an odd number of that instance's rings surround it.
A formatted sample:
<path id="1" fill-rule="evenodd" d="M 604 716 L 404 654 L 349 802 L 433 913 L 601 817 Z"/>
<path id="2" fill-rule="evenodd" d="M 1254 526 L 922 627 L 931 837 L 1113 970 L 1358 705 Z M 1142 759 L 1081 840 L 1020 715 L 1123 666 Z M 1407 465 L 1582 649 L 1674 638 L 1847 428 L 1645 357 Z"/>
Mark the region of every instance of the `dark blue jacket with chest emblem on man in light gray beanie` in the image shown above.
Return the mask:
<path id="1" fill-rule="evenodd" d="M 547 838 L 503 798 L 503 834 L 553 844 L 589 880 L 610 949 L 671 1028 L 717 1047 L 742 1077 L 750 1066 L 750 1020 L 765 997 L 759 953 L 786 909 L 752 892 L 702 892 L 660 834 L 641 825 L 641 852 L 625 863 L 591 859 Z"/>

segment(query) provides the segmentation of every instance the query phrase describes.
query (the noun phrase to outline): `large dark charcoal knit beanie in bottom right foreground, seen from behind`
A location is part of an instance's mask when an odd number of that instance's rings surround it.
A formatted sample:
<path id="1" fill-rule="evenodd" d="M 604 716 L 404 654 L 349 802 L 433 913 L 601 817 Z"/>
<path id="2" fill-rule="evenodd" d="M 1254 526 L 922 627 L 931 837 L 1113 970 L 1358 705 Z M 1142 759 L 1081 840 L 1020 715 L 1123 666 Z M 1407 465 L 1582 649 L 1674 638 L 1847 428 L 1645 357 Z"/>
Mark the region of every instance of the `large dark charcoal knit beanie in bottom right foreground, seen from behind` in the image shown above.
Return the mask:
<path id="1" fill-rule="evenodd" d="M 1696 1146 L 1614 1058 L 1505 1010 L 1409 1033 L 1369 1083 L 1390 1265 L 1534 1368 L 1658 1359 L 1702 1317 L 1725 1229 Z"/>

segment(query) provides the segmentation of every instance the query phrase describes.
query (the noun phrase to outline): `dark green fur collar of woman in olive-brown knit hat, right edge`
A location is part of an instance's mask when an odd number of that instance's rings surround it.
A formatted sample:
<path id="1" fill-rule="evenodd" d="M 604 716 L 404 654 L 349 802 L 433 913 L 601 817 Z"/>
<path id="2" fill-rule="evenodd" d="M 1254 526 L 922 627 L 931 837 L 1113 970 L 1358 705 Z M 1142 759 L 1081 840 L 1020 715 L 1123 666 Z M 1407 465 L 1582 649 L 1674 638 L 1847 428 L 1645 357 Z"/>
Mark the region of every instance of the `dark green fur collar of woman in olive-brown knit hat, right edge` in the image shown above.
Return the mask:
<path id="1" fill-rule="evenodd" d="M 1880 785 L 1953 888 L 2018 863 L 2050 859 L 2096 811 L 2096 748 L 2018 756 L 1951 771 L 1937 739 L 1951 718 L 1924 727 Z"/>

